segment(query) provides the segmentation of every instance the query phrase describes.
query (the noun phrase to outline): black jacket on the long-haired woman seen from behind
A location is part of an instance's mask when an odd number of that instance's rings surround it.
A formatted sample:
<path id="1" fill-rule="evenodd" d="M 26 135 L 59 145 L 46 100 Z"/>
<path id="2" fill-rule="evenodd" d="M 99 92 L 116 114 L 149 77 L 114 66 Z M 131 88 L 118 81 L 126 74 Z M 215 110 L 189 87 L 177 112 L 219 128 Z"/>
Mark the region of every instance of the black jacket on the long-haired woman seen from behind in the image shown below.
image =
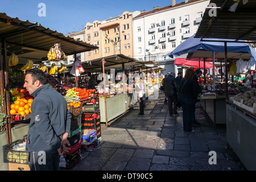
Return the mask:
<path id="1" fill-rule="evenodd" d="M 199 92 L 198 89 L 198 84 L 195 81 L 195 79 L 188 79 L 187 82 L 185 82 L 185 80 L 182 79 L 180 81 L 180 87 L 179 87 L 179 91 L 180 91 L 180 96 L 181 97 L 185 97 L 185 98 L 194 98 L 197 99 Z M 183 86 L 184 85 L 184 86 Z M 183 89 L 182 89 L 183 88 Z M 182 90 L 181 90 L 182 89 Z"/>

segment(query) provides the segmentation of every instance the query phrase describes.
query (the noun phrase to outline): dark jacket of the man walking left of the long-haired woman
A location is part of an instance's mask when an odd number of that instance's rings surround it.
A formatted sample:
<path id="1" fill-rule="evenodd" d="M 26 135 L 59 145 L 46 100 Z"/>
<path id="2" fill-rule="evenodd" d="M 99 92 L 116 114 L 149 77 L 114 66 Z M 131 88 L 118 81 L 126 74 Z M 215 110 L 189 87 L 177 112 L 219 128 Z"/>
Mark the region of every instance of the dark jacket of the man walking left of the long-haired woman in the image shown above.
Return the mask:
<path id="1" fill-rule="evenodd" d="M 168 75 L 164 79 L 164 89 L 164 93 L 166 93 L 168 97 L 177 96 L 177 84 L 174 76 Z"/>

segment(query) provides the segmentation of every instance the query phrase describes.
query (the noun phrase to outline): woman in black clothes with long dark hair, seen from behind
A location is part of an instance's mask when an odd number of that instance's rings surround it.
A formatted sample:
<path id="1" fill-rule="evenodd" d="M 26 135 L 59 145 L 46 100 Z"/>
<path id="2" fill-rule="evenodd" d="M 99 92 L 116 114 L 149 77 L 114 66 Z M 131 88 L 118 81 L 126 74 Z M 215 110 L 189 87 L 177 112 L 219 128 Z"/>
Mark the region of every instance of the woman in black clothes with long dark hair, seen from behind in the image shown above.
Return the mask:
<path id="1" fill-rule="evenodd" d="M 183 110 L 183 131 L 186 133 L 193 133 L 193 112 L 195 110 L 195 104 L 197 101 L 197 95 L 199 90 L 197 88 L 197 82 L 193 79 L 195 71 L 189 68 L 185 72 L 184 78 L 180 81 L 180 104 Z"/>

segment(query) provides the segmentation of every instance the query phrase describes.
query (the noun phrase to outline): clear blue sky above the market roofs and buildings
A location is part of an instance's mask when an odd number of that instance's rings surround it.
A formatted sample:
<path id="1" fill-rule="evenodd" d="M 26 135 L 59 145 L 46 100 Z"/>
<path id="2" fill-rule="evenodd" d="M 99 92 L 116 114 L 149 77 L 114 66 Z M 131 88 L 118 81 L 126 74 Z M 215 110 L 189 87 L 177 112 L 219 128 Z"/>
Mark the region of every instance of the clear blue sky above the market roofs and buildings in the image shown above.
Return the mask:
<path id="1" fill-rule="evenodd" d="M 64 35 L 72 31 L 80 31 L 87 22 L 104 20 L 118 16 L 123 11 L 151 11 L 153 7 L 170 6 L 172 0 L 0 0 L 0 13 L 11 18 L 38 22 L 43 27 L 56 30 Z M 176 3 L 184 0 L 176 0 Z M 39 16 L 39 3 L 46 5 L 46 16 Z"/>

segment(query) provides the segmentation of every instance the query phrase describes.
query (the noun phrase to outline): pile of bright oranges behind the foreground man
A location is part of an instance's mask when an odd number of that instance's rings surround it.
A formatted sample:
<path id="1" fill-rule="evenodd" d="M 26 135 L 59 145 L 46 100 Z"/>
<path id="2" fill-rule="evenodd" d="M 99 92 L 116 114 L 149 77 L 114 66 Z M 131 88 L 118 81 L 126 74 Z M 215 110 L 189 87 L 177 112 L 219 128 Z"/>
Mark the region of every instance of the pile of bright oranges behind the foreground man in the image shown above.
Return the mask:
<path id="1" fill-rule="evenodd" d="M 14 104 L 11 104 L 10 114 L 22 114 L 22 117 L 24 117 L 25 114 L 30 114 L 32 102 L 33 102 L 32 98 L 28 100 L 26 100 L 26 98 L 24 97 L 17 98 Z"/>

